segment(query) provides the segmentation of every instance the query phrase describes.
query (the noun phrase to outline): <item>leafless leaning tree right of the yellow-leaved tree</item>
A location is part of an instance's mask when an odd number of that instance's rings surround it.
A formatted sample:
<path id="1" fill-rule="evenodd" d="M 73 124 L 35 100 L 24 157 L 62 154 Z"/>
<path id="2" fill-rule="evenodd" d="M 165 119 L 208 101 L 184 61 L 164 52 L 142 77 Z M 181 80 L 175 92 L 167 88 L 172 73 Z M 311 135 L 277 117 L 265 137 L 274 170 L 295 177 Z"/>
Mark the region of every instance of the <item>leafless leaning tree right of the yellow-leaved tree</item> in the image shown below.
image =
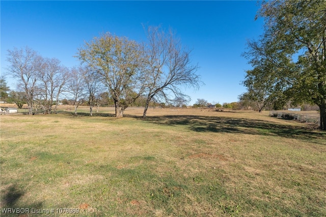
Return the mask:
<path id="1" fill-rule="evenodd" d="M 170 30 L 165 33 L 159 27 L 149 27 L 147 32 L 148 45 L 145 50 L 147 65 L 147 79 L 144 84 L 146 103 L 143 118 L 151 100 L 173 103 L 173 99 L 189 101 L 190 97 L 184 94 L 181 87 L 198 89 L 202 84 L 197 65 L 192 65 L 187 50 L 175 38 Z"/>

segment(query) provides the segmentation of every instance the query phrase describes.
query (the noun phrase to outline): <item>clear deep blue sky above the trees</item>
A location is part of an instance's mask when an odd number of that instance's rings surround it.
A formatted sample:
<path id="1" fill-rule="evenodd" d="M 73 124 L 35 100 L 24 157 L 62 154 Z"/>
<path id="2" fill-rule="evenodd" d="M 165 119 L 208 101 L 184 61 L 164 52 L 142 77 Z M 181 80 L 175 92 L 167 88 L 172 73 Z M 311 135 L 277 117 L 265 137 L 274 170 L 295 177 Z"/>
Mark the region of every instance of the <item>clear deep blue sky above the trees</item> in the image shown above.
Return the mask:
<path id="1" fill-rule="evenodd" d="M 241 57 L 248 39 L 262 34 L 263 20 L 254 20 L 256 1 L 1 1 L 1 73 L 7 50 L 29 46 L 67 67 L 76 66 L 77 48 L 104 32 L 145 39 L 143 25 L 172 28 L 184 46 L 193 49 L 205 83 L 192 97 L 208 102 L 234 102 L 246 92 Z M 15 82 L 7 76 L 11 89 Z"/>

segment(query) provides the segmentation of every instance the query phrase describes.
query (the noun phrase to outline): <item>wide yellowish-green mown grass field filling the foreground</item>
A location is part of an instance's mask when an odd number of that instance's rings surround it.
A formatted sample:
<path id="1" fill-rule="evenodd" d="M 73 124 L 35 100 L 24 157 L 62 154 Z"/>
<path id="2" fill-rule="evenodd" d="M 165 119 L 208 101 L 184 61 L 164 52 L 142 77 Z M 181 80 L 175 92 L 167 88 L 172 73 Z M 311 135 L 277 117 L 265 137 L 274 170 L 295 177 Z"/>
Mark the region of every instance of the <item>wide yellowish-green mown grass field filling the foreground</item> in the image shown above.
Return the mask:
<path id="1" fill-rule="evenodd" d="M 326 133 L 305 123 L 268 112 L 87 112 L 0 116 L 1 212 L 326 216 Z M 46 214 L 1 213 L 15 215 Z"/>

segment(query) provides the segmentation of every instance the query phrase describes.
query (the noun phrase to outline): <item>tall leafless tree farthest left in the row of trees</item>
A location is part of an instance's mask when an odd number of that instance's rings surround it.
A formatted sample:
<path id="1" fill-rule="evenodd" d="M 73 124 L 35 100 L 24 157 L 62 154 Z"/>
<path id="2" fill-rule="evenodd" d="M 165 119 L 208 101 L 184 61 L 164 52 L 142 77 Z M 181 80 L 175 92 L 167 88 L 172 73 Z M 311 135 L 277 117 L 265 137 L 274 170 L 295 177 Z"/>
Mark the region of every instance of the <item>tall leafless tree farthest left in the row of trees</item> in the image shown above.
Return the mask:
<path id="1" fill-rule="evenodd" d="M 29 47 L 14 48 L 8 50 L 7 61 L 10 63 L 7 70 L 13 78 L 18 79 L 18 85 L 24 89 L 29 115 L 33 115 L 33 100 L 42 66 L 42 57 Z"/>

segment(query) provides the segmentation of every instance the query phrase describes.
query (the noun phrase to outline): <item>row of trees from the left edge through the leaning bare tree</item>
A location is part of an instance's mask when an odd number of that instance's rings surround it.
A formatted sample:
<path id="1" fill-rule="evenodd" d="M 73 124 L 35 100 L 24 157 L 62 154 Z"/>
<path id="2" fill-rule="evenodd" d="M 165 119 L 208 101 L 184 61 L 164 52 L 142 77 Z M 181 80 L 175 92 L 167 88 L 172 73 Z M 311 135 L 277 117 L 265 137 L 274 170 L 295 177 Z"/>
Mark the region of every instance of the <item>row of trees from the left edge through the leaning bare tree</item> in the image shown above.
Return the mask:
<path id="1" fill-rule="evenodd" d="M 182 90 L 200 87 L 190 53 L 171 30 L 153 26 L 142 43 L 110 33 L 85 42 L 75 56 L 80 65 L 72 68 L 30 47 L 13 48 L 6 72 L 18 82 L 17 90 L 9 91 L 2 77 L 1 99 L 28 104 L 30 115 L 38 108 L 56 113 L 60 99 L 74 105 L 75 114 L 81 104 L 89 105 L 90 115 L 96 106 L 114 104 L 116 117 L 123 117 L 128 106 L 141 105 L 146 118 L 149 106 L 182 106 L 190 100 Z"/>

